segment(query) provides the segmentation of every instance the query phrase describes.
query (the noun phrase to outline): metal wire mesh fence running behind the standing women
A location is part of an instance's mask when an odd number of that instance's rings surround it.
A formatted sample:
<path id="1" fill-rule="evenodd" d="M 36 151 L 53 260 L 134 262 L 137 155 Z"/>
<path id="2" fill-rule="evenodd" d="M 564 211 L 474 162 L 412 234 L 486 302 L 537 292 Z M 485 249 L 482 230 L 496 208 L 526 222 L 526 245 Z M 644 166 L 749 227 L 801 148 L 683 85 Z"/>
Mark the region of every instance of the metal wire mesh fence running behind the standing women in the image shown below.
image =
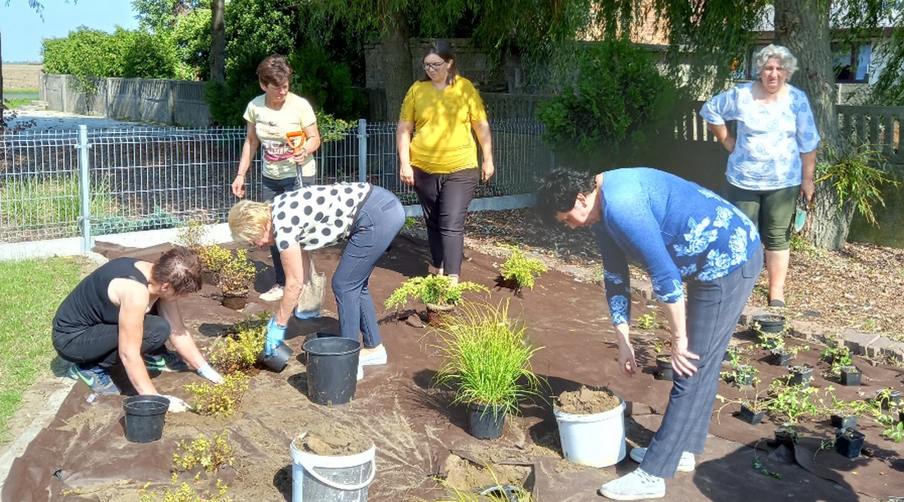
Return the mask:
<path id="1" fill-rule="evenodd" d="M 496 175 L 476 197 L 528 194 L 552 164 L 542 125 L 501 120 L 493 131 Z M 417 204 L 400 183 L 395 123 L 321 131 L 320 184 L 369 181 Z M 244 128 L 127 128 L 0 135 L 0 243 L 223 222 L 236 198 Z M 260 200 L 260 156 L 246 196 Z"/>

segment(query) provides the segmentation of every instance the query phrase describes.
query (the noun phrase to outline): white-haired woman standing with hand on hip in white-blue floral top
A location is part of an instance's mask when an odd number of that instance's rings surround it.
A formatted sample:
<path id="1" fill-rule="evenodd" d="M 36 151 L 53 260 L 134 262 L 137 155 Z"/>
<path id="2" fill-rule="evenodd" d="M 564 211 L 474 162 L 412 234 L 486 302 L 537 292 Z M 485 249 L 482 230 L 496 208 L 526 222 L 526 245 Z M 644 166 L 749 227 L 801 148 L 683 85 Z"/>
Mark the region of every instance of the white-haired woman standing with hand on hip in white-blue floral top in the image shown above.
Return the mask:
<path id="1" fill-rule="evenodd" d="M 803 90 L 787 83 L 797 59 L 785 47 L 767 45 L 754 64 L 759 79 L 706 101 L 700 114 L 729 151 L 725 175 L 729 200 L 763 234 L 769 277 L 769 307 L 785 307 L 785 279 L 791 256 L 791 227 L 798 198 L 815 194 L 819 132 Z M 736 137 L 727 120 L 738 123 Z"/>

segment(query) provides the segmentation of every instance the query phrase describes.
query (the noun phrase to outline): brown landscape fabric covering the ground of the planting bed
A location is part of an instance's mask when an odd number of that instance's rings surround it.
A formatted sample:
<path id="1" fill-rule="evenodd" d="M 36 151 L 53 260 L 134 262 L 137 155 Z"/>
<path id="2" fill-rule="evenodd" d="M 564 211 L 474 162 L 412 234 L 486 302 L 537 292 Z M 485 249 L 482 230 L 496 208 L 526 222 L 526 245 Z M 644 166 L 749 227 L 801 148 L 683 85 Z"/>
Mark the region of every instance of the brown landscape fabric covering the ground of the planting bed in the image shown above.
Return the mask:
<path id="1" fill-rule="evenodd" d="M 165 249 L 167 246 L 126 250 L 101 245 L 97 251 L 108 258 L 129 255 L 154 260 Z M 318 270 L 325 271 L 327 278 L 341 251 L 334 248 L 315 253 Z M 499 260 L 474 251 L 467 254 L 462 277 L 492 288 Z M 261 269 L 269 263 L 266 250 L 253 251 L 250 256 Z M 541 502 L 602 499 L 596 493 L 599 485 L 635 469 L 636 463 L 626 457 L 617 466 L 591 469 L 562 459 L 550 404 L 525 403 L 522 416 L 507 419 L 502 438 L 476 440 L 468 434 L 464 408 L 450 406 L 449 393 L 432 388 L 430 381 L 440 361 L 432 355 L 425 329 L 411 327 L 398 320 L 395 312 L 381 308 L 381 302 L 402 280 L 427 273 L 426 256 L 425 242 L 401 235 L 378 263 L 370 288 L 380 304 L 378 317 L 389 364 L 365 367 L 364 379 L 357 384 L 352 403 L 326 407 L 311 403 L 306 397 L 301 344 L 308 334 L 338 330 L 334 298 L 328 293 L 323 317 L 293 319 L 290 323 L 287 344 L 295 355 L 287 368 L 280 374 L 254 374 L 235 416 L 167 414 L 162 440 L 130 443 L 123 434 L 123 397 L 103 396 L 87 403 L 88 388 L 76 384 L 50 425 L 31 442 L 22 457 L 14 460 L 2 499 L 137 501 L 142 488 L 161 494 L 170 484 L 173 454 L 180 440 L 193 440 L 199 433 L 210 437 L 228 431 L 236 450 L 235 464 L 217 475 L 229 486 L 228 495 L 236 501 L 291 500 L 289 443 L 300 432 L 322 430 L 330 423 L 353 426 L 370 435 L 376 444 L 377 475 L 368 498 L 372 502 L 438 499 L 443 490 L 433 477 L 443 475 L 450 483 L 466 482 L 469 476 L 460 470 L 477 469 L 472 462 L 489 464 L 497 473 L 508 469 L 527 471 L 529 475 L 523 481 Z M 272 271 L 264 270 L 255 289 L 266 290 L 271 282 Z M 252 292 L 248 307 L 235 312 L 220 306 L 218 293 L 218 289 L 205 285 L 200 295 L 192 295 L 181 304 L 186 325 L 202 347 L 240 318 L 276 306 L 259 300 L 258 293 Z M 467 293 L 471 299 L 480 296 Z M 664 412 L 671 388 L 669 382 L 654 380 L 654 352 L 645 340 L 655 336 L 666 339 L 668 334 L 663 330 L 633 328 L 644 372 L 629 379 L 618 373 L 614 332 L 603 290 L 598 286 L 550 271 L 537 280 L 535 289 L 523 291 L 522 297 L 508 289 L 494 289 L 490 301 L 506 299 L 511 301 L 510 314 L 523 317 L 530 336 L 544 347 L 534 357 L 533 367 L 548 378 L 549 394 L 575 390 L 581 384 L 608 386 L 629 404 L 629 444 L 645 446 L 661 420 L 659 413 Z M 423 307 L 410 305 L 410 310 L 416 308 Z M 635 298 L 634 316 L 648 311 L 644 300 Z M 402 311 L 403 316 L 406 313 Z M 737 334 L 741 343 L 750 344 L 747 336 Z M 767 365 L 761 351 L 749 354 L 764 383 L 785 371 Z M 815 385 L 834 384 L 821 376 L 825 365 L 817 363 L 817 355 L 818 351 L 811 348 L 797 359 L 815 365 Z M 863 369 L 864 385 L 845 388 L 834 384 L 842 397 L 852 398 L 858 392 L 871 396 L 882 386 L 901 388 L 899 368 L 871 366 L 865 361 L 858 364 Z M 154 379 L 161 393 L 184 398 L 188 397 L 184 384 L 200 381 L 195 374 L 161 374 Z M 739 395 L 728 384 L 720 384 L 720 393 Z M 798 460 L 787 462 L 767 443 L 776 423 L 767 419 L 764 424 L 751 426 L 732 416 L 737 410 L 732 404 L 720 414 L 713 414 L 712 436 L 706 451 L 697 458 L 696 470 L 677 473 L 675 478 L 666 480 L 663 500 L 742 502 L 788 498 L 797 502 L 835 502 L 904 495 L 904 444 L 880 436 L 881 429 L 870 421 L 860 420 L 870 458 L 849 460 L 831 449 L 818 450 L 820 441 L 832 436 L 833 429 L 826 420 L 802 424 L 803 439 L 796 448 Z M 780 473 L 781 478 L 754 469 L 757 456 L 765 469 Z M 825 478 L 836 478 L 837 482 Z M 202 477 L 200 483 L 212 486 L 213 479 Z"/>

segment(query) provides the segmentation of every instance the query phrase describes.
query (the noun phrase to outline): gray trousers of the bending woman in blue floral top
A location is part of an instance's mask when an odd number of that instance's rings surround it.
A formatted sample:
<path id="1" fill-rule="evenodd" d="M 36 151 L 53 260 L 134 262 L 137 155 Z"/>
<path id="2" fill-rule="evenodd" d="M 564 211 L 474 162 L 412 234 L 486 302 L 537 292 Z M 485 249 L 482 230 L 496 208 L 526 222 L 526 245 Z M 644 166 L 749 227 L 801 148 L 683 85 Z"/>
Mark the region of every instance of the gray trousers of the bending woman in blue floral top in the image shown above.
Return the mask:
<path id="1" fill-rule="evenodd" d="M 757 249 L 747 263 L 721 279 L 687 283 L 688 350 L 700 359 L 691 376 L 674 374 L 663 423 L 640 464 L 648 474 L 672 478 L 683 451 L 703 452 L 725 348 L 762 268 L 763 252 Z"/>

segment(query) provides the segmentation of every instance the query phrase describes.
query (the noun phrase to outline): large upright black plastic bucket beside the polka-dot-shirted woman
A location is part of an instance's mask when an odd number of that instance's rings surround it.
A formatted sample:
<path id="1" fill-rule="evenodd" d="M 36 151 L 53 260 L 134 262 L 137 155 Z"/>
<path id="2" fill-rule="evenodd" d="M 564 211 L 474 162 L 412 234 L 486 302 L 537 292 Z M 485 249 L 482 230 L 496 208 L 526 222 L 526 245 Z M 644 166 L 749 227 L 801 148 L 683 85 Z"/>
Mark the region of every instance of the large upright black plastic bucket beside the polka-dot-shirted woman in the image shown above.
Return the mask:
<path id="1" fill-rule="evenodd" d="M 329 336 L 307 340 L 301 348 L 307 355 L 307 397 L 326 405 L 352 401 L 361 342 Z"/>

